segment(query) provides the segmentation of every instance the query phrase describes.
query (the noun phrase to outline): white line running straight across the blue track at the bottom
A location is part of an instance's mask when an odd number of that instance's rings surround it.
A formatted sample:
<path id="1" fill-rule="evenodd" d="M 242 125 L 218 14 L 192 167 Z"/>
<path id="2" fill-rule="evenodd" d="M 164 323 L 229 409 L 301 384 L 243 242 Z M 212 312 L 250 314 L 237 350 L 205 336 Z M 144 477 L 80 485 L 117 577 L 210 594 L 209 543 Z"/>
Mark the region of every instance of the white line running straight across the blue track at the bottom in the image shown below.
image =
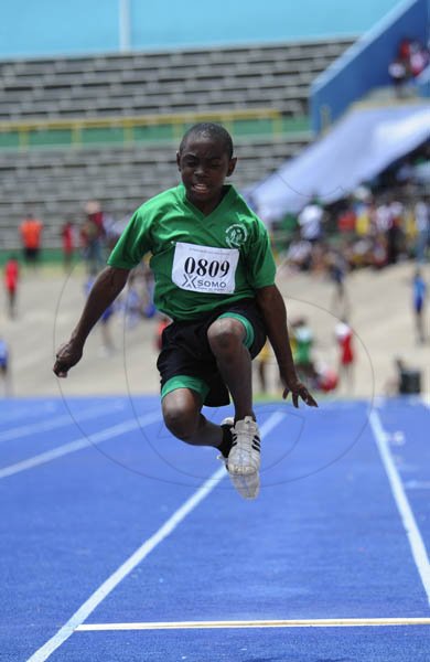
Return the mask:
<path id="1" fill-rule="evenodd" d="M 318 618 L 290 620 L 238 621 L 161 621 L 142 623 L 83 623 L 76 632 L 111 632 L 116 630 L 217 630 L 230 628 L 375 628 L 394 626 L 430 626 L 430 618 Z"/>

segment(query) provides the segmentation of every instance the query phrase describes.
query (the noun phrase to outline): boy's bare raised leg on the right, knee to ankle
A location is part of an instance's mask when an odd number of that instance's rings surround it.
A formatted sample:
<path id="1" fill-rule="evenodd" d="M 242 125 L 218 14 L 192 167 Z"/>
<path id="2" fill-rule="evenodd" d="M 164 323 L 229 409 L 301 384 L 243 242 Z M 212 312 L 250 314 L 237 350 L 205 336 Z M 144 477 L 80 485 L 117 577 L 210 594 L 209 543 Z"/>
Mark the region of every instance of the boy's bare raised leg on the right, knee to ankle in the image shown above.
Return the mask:
<path id="1" fill-rule="evenodd" d="M 218 318 L 207 330 L 207 339 L 218 370 L 232 394 L 235 418 L 254 418 L 252 412 L 252 363 L 244 345 L 246 329 L 236 318 Z"/>

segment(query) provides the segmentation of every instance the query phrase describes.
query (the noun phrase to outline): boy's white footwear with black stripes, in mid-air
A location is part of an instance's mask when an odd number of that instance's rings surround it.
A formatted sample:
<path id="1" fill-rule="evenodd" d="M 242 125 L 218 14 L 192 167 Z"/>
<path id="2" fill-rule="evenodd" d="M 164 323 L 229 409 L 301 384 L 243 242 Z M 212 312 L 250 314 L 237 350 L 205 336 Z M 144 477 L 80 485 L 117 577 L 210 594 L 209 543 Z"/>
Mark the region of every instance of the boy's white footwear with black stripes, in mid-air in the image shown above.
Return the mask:
<path id="1" fill-rule="evenodd" d="M 222 425 L 232 425 L 233 446 L 225 460 L 232 483 L 244 499 L 256 499 L 260 490 L 260 435 L 250 417 L 237 420 L 226 418 Z"/>

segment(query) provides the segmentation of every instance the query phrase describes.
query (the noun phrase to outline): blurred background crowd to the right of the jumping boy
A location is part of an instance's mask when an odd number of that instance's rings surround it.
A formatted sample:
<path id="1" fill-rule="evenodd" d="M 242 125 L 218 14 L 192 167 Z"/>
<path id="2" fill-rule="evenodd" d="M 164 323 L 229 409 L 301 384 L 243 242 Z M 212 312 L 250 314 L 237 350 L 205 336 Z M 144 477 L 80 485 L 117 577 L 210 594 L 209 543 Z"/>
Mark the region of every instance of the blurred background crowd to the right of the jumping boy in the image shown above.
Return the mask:
<path id="1" fill-rule="evenodd" d="M 291 322 L 294 361 L 304 381 L 315 391 L 354 389 L 354 332 L 351 327 L 352 301 L 346 281 L 352 271 L 370 268 L 375 273 L 409 261 L 411 265 L 410 301 L 415 319 L 413 338 L 428 341 L 426 322 L 427 274 L 430 260 L 430 147 L 424 145 L 394 163 L 374 182 L 358 186 L 350 196 L 323 204 L 312 196 L 297 214 L 287 214 L 273 225 L 272 241 L 280 270 L 322 276 L 332 285 L 331 312 L 337 317 L 333 342 L 337 360 L 327 364 L 315 360 L 316 333 L 309 320 Z M 267 388 L 270 350 L 260 355 L 260 388 Z M 415 393 L 419 385 L 416 369 L 394 357 L 398 373 L 387 393 Z M 401 371 L 400 367 L 401 366 Z M 401 374 L 400 374 L 401 373 Z M 405 375 L 412 375 L 408 381 Z M 409 378 L 409 377 L 408 377 Z M 409 389 L 409 391 L 408 391 Z"/>

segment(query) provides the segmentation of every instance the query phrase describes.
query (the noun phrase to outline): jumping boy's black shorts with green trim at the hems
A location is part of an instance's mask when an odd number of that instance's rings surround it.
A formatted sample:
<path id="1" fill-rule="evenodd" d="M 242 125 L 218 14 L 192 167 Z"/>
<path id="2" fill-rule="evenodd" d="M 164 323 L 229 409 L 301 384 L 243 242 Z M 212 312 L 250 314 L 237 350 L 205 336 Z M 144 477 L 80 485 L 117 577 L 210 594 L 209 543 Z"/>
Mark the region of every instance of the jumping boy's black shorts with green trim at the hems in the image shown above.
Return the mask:
<path id="1" fill-rule="evenodd" d="M 198 320 L 172 322 L 162 333 L 157 362 L 162 397 L 175 388 L 191 388 L 201 395 L 204 405 L 228 405 L 228 389 L 207 340 L 208 328 L 219 317 L 239 319 L 246 330 L 244 343 L 251 357 L 260 352 L 266 342 L 266 329 L 254 299 L 241 299 L 216 308 Z"/>

